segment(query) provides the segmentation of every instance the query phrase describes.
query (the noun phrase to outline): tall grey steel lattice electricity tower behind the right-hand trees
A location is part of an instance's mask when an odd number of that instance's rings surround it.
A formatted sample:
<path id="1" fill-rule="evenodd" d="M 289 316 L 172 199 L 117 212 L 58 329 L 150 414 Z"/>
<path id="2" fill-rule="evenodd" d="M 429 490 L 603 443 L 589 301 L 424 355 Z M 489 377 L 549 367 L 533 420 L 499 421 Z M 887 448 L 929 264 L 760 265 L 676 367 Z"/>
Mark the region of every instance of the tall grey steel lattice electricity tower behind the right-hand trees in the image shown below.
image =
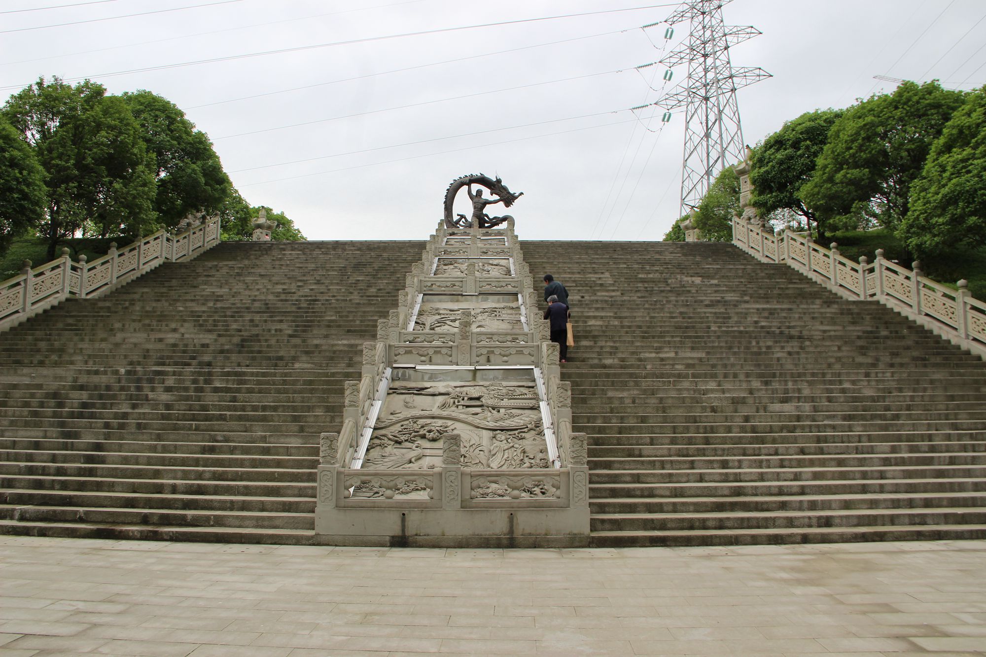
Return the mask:
<path id="1" fill-rule="evenodd" d="M 670 68 L 688 64 L 688 78 L 654 105 L 684 108 L 684 158 L 681 164 L 681 215 L 693 207 L 727 166 L 744 158 L 740 87 L 771 77 L 762 68 L 734 68 L 730 47 L 761 34 L 752 27 L 727 27 L 723 6 L 732 0 L 688 0 L 665 23 L 691 21 L 686 42 L 661 59 Z"/>

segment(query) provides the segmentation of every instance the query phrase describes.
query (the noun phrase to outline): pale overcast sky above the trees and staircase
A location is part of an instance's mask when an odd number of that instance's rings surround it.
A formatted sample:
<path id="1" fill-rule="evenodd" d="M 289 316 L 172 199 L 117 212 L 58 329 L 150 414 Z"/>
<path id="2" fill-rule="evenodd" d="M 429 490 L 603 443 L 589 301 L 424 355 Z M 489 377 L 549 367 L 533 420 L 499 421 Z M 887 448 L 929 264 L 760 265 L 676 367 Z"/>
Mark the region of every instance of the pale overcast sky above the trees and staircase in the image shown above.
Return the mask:
<path id="1" fill-rule="evenodd" d="M 313 240 L 424 239 L 470 173 L 525 192 L 510 210 L 522 238 L 660 240 L 678 216 L 684 116 L 629 110 L 664 83 L 634 67 L 687 37 L 687 23 L 670 41 L 641 29 L 676 6 L 660 4 L 0 0 L 0 98 L 41 75 L 160 94 L 251 205 Z M 748 144 L 892 90 L 877 74 L 986 83 L 984 0 L 735 0 L 724 15 L 763 33 L 733 64 L 773 74 L 739 92 Z M 504 22 L 517 23 L 487 25 Z"/>

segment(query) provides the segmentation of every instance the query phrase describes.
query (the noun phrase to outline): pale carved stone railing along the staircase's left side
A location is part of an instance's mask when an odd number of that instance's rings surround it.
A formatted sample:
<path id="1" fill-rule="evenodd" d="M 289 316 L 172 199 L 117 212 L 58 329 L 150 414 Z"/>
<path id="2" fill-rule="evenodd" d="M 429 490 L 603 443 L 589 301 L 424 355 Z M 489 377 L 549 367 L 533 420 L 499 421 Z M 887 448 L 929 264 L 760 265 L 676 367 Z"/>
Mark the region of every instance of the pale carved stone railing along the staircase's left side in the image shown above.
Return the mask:
<path id="1" fill-rule="evenodd" d="M 62 256 L 32 268 L 25 260 L 20 274 L 0 282 L 0 330 L 11 328 L 69 297 L 101 296 L 150 271 L 166 260 L 188 260 L 219 244 L 220 220 L 207 219 L 176 236 L 165 231 L 141 238 L 88 262 L 85 255 L 73 262 L 68 249 Z"/>

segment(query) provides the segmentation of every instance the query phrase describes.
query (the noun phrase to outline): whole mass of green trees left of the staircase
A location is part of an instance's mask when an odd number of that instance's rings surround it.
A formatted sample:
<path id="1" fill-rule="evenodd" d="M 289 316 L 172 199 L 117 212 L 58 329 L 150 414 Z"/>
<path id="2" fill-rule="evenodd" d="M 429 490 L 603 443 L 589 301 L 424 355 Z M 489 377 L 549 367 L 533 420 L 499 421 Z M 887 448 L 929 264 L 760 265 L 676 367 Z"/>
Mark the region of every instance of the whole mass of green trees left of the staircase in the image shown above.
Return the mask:
<path id="1" fill-rule="evenodd" d="M 225 238 L 248 239 L 259 212 L 205 133 L 149 91 L 39 78 L 0 109 L 0 147 L 0 253 L 30 234 L 51 259 L 70 237 L 133 238 L 198 213 L 218 213 Z M 283 213 L 271 219 L 271 239 L 305 239 Z"/>

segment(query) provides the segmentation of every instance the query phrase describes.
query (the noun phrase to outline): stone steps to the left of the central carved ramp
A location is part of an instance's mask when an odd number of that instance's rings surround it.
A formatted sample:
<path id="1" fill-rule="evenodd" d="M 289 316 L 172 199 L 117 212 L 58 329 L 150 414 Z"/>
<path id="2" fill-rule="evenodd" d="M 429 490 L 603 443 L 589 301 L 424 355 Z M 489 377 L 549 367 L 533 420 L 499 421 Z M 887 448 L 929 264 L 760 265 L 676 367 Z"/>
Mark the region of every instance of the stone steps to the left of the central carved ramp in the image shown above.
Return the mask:
<path id="1" fill-rule="evenodd" d="M 223 244 L 0 333 L 0 533 L 309 543 L 420 242 Z"/>

